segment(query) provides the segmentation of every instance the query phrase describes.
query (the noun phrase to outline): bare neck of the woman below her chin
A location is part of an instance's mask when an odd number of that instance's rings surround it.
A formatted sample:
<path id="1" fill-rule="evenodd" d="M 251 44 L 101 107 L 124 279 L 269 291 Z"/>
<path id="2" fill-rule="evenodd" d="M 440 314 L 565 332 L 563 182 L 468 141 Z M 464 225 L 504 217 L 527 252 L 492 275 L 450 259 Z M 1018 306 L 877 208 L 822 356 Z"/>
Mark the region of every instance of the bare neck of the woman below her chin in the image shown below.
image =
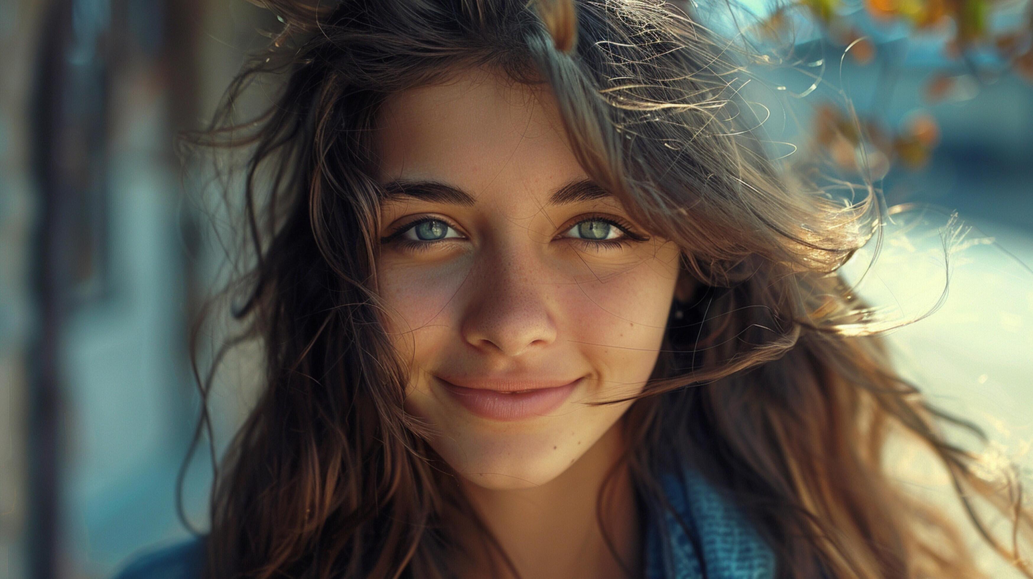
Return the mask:
<path id="1" fill-rule="evenodd" d="M 624 566 L 640 566 L 639 514 L 626 464 L 614 473 L 597 516 L 603 480 L 625 449 L 621 424 L 618 421 L 562 475 L 539 487 L 492 490 L 463 480 L 464 493 L 521 577 L 626 577 L 606 546 L 600 519 Z M 477 530 L 465 524 L 460 535 L 471 553 L 460 577 L 491 576 Z M 512 577 L 501 559 L 496 562 L 502 577 Z"/>

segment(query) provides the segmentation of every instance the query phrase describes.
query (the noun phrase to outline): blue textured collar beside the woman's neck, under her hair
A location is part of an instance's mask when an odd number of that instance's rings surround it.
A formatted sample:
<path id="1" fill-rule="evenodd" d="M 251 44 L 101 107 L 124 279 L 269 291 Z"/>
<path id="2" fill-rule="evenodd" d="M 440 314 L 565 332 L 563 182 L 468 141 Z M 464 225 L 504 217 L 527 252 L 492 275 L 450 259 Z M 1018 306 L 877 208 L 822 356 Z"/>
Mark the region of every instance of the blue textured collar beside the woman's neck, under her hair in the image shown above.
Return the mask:
<path id="1" fill-rule="evenodd" d="M 647 579 L 769 579 L 775 576 L 775 554 L 734 505 L 694 470 L 662 480 L 670 512 L 653 521 L 646 535 Z M 670 541 L 663 543 L 665 525 Z"/>

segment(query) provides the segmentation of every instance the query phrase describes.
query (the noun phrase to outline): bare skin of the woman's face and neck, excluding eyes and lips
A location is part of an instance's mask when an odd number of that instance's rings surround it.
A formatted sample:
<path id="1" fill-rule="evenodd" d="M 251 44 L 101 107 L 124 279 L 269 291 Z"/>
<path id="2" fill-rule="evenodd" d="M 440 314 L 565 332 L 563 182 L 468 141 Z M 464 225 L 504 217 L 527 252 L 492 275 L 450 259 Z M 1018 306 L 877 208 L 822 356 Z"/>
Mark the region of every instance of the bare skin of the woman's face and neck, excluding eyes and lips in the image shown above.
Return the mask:
<path id="1" fill-rule="evenodd" d="M 438 433 L 431 446 L 524 577 L 617 577 L 596 519 L 596 495 L 624 450 L 621 417 L 656 364 L 676 294 L 679 248 L 634 223 L 615 199 L 549 205 L 588 179 L 542 87 L 463 70 L 447 83 L 388 97 L 374 147 L 380 182 L 430 180 L 462 189 L 472 206 L 400 197 L 381 208 L 377 281 L 388 331 L 410 362 L 406 409 Z M 447 224 L 407 228 L 431 216 Z M 578 223 L 648 237 L 592 246 Z M 439 226 L 441 226 L 439 224 Z M 418 227 L 417 227 L 418 228 Z M 572 231 L 571 231 L 572 230 Z M 593 235 L 593 234 L 589 234 Z M 681 294 L 680 294 L 681 295 Z M 556 410 L 515 422 L 471 414 L 437 375 L 532 373 L 585 379 Z M 605 500 L 605 524 L 626 563 L 638 566 L 638 514 L 627 473 Z M 475 529 L 461 529 L 473 541 Z M 487 561 L 463 573 L 477 576 Z M 483 576 L 483 575 L 482 575 Z"/>

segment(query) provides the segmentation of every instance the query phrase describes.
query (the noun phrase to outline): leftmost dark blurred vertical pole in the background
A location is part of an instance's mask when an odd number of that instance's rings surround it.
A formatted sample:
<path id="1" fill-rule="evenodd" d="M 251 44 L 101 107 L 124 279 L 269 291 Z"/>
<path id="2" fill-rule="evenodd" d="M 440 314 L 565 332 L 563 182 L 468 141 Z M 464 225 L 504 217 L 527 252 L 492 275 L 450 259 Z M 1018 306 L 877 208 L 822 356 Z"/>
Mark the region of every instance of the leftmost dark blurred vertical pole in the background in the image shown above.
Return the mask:
<path id="1" fill-rule="evenodd" d="M 32 95 L 37 333 L 29 351 L 28 576 L 63 575 L 62 337 L 76 301 L 103 292 L 109 11 L 103 0 L 53 0 L 39 31 Z"/>

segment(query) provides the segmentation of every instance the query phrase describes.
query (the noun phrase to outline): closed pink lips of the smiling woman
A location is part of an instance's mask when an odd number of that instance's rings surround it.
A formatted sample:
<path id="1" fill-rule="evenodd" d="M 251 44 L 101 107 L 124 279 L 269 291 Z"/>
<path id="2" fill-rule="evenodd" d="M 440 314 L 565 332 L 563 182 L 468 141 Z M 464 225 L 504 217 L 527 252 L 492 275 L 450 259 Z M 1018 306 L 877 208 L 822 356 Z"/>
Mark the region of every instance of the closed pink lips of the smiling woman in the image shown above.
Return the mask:
<path id="1" fill-rule="evenodd" d="M 466 409 L 481 418 L 502 422 L 525 420 L 555 410 L 563 404 L 580 383 L 581 378 L 577 378 L 563 386 L 522 392 L 521 388 L 516 388 L 520 385 L 514 383 L 504 384 L 502 388 L 496 385 L 494 389 L 487 389 L 456 386 L 441 379 L 445 392 Z M 540 384 L 538 383 L 539 386 Z"/>

